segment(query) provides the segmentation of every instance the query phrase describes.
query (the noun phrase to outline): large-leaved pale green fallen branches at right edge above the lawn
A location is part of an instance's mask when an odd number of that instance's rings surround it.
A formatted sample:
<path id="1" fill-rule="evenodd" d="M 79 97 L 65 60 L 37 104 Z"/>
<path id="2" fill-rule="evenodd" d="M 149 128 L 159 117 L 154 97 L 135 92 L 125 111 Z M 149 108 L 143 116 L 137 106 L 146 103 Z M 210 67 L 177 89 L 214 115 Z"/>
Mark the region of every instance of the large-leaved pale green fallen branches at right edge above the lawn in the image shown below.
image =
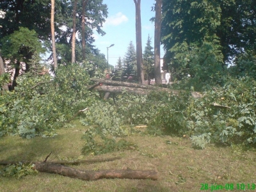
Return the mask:
<path id="1" fill-rule="evenodd" d="M 255 143 L 256 82 L 248 77 L 228 78 L 216 91 L 206 92 L 204 98 L 195 100 L 187 114 L 191 139 L 204 148 L 209 141 L 222 143 Z M 231 108 L 216 108 L 215 102 Z"/>

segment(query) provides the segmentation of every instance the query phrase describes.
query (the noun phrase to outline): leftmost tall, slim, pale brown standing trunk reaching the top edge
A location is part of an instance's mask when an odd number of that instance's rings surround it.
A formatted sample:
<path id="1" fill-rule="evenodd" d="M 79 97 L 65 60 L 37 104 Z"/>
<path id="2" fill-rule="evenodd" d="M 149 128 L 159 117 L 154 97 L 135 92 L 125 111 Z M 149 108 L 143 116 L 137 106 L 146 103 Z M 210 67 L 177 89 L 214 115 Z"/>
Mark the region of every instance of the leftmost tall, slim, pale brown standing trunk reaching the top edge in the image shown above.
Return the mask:
<path id="1" fill-rule="evenodd" d="M 51 33 L 52 33 L 52 56 L 53 56 L 53 63 L 54 63 L 54 71 L 58 68 L 57 63 L 57 54 L 56 54 L 56 46 L 55 46 L 55 35 L 54 35 L 54 7 L 55 2 L 51 0 Z"/>

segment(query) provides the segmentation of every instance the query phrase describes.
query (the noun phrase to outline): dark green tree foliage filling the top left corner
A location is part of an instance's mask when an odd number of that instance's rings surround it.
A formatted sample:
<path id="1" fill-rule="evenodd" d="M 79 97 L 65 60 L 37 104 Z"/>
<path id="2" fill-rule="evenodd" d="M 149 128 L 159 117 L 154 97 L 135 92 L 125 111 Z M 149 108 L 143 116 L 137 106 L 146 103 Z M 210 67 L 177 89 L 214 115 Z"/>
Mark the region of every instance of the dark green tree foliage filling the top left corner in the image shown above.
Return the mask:
<path id="1" fill-rule="evenodd" d="M 40 1 L 1 1 L 0 8 L 6 12 L 0 19 L 0 39 L 18 31 L 20 27 L 35 30 L 41 40 L 47 40 L 51 34 L 50 22 L 51 4 L 49 0 Z M 60 1 L 56 1 L 56 10 L 60 10 Z M 58 17 L 58 14 L 56 14 Z"/>

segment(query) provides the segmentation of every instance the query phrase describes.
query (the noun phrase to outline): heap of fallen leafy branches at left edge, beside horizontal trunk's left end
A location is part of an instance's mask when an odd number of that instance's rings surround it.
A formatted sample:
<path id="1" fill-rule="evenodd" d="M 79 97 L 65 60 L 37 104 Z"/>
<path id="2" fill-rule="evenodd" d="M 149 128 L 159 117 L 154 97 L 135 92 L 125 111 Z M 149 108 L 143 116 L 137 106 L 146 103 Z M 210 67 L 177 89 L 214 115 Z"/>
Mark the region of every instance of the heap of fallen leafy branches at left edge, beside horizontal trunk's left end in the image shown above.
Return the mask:
<path id="1" fill-rule="evenodd" d="M 54 129 L 94 102 L 96 97 L 87 90 L 90 78 L 83 67 L 60 66 L 56 74 L 20 76 L 13 92 L 0 95 L 0 135 L 54 136 Z"/>

